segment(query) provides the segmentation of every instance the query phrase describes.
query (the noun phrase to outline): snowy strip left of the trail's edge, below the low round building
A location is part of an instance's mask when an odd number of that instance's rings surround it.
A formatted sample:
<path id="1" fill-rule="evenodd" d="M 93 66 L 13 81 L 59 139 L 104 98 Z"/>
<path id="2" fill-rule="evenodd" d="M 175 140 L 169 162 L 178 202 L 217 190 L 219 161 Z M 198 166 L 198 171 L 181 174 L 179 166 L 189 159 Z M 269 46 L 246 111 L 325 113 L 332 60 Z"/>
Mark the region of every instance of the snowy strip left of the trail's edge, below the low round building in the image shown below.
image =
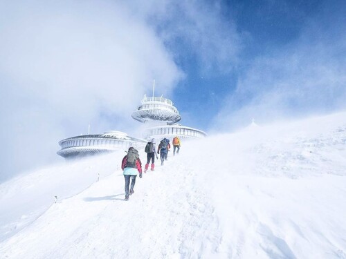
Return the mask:
<path id="1" fill-rule="evenodd" d="M 121 155 L 123 152 L 121 153 Z M 0 184 L 0 241 L 33 222 L 55 201 L 80 193 L 99 178 L 120 168 L 114 155 L 65 162 L 27 172 Z"/>

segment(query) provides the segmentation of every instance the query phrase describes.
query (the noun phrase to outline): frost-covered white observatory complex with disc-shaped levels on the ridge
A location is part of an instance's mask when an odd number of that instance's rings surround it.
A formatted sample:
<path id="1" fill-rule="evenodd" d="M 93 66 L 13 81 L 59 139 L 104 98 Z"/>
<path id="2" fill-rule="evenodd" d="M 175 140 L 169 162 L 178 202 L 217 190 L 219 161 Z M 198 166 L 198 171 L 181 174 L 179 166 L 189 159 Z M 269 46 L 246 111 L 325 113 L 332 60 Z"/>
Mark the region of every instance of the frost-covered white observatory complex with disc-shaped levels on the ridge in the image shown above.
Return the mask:
<path id="1" fill-rule="evenodd" d="M 192 140 L 206 137 L 206 133 L 196 128 L 177 124 L 181 115 L 173 102 L 164 97 L 147 97 L 142 99 L 140 106 L 131 115 L 138 122 L 145 125 L 141 138 L 129 137 L 120 131 L 107 131 L 101 135 L 80 135 L 69 137 L 59 142 L 61 150 L 57 155 L 65 158 L 82 157 L 109 153 L 119 149 L 126 150 L 130 146 L 142 148 L 147 140 L 156 139 L 158 142 L 164 137 L 172 140 L 178 136 L 181 140 Z"/>

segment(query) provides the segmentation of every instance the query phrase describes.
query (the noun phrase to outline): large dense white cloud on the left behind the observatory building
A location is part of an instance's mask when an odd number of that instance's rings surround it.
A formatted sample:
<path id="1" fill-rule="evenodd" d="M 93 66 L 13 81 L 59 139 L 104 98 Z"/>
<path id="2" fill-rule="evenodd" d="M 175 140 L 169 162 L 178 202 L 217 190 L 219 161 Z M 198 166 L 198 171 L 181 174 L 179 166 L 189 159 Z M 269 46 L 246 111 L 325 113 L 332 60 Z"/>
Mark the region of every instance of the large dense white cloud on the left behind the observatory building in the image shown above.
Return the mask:
<path id="1" fill-rule="evenodd" d="M 93 133 L 136 124 L 131 112 L 152 80 L 166 94 L 182 77 L 120 3 L 3 2 L 0 24 L 1 177 L 57 159 L 57 141 L 90 122 Z"/>

